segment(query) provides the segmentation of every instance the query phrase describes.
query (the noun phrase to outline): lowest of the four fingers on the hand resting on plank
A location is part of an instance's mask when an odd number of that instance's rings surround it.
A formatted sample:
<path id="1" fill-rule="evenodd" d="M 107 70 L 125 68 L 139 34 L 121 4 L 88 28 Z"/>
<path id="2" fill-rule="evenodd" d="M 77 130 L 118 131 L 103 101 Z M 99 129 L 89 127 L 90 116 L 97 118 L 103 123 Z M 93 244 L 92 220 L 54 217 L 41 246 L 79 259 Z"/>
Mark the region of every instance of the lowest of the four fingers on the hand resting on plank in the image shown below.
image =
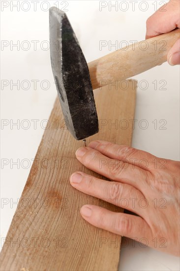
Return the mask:
<path id="1" fill-rule="evenodd" d="M 151 237 L 149 225 L 139 216 L 112 212 L 95 205 L 84 205 L 81 215 L 93 226 L 121 236 L 132 239 Z"/>

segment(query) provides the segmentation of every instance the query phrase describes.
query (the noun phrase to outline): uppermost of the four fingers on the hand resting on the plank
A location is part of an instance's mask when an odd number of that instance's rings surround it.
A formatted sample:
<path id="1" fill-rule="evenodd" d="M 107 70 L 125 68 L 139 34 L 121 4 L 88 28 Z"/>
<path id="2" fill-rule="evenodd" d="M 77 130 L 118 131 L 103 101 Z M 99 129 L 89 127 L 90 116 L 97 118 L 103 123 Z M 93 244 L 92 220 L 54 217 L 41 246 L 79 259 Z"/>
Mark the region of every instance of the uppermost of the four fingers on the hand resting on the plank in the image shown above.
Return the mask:
<path id="1" fill-rule="evenodd" d="M 118 160 L 126 160 L 132 168 L 137 166 L 141 169 L 153 170 L 154 165 L 160 163 L 161 159 L 142 150 L 134 149 L 129 146 L 117 145 L 107 141 L 92 141 L 89 144 L 90 148 L 96 149 L 103 155 Z M 156 164 L 154 164 L 156 161 Z"/>

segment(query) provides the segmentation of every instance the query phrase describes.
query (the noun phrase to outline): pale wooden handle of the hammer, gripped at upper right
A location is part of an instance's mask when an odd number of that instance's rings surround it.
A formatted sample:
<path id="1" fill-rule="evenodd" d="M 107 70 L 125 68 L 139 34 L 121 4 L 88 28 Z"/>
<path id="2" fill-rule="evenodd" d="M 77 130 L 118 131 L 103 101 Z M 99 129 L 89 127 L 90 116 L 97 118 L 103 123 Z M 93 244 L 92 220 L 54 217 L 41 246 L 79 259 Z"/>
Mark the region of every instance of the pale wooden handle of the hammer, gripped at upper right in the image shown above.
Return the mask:
<path id="1" fill-rule="evenodd" d="M 121 48 L 88 64 L 92 88 L 137 75 L 164 63 L 180 29 Z"/>

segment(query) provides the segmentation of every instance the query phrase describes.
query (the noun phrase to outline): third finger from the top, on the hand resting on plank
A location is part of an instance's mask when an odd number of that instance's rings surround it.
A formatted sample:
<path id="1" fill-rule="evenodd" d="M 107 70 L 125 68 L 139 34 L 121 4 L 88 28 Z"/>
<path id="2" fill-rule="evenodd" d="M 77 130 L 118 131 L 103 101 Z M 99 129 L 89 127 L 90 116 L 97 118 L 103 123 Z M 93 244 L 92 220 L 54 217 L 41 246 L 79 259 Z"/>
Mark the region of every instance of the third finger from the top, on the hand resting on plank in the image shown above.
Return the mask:
<path id="1" fill-rule="evenodd" d="M 144 196 L 131 185 L 105 181 L 83 172 L 73 173 L 70 183 L 83 193 L 142 215 L 144 209 L 138 203 Z"/>

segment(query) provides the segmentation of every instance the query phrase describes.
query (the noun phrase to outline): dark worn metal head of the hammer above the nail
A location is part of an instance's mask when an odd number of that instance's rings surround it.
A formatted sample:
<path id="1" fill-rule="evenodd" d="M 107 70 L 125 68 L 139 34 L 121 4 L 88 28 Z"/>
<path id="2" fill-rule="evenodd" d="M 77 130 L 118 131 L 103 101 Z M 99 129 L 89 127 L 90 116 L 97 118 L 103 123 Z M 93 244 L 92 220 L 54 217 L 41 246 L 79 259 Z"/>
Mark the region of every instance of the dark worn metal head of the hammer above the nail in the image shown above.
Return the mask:
<path id="1" fill-rule="evenodd" d="M 66 126 L 77 139 L 98 132 L 90 73 L 64 12 L 50 8 L 51 66 Z"/>

